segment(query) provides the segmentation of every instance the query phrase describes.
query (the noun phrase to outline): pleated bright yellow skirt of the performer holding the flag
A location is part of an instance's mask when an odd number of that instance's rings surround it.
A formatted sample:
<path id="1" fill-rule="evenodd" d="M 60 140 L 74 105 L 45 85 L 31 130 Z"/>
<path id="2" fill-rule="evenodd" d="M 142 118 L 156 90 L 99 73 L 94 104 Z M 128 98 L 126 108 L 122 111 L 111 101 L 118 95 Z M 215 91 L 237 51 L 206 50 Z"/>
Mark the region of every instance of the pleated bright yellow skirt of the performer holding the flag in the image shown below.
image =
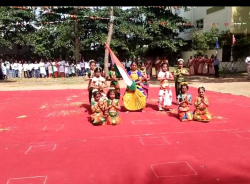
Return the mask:
<path id="1" fill-rule="evenodd" d="M 123 96 L 123 103 L 129 111 L 141 110 L 146 106 L 146 95 L 138 88 L 135 91 L 128 90 Z"/>

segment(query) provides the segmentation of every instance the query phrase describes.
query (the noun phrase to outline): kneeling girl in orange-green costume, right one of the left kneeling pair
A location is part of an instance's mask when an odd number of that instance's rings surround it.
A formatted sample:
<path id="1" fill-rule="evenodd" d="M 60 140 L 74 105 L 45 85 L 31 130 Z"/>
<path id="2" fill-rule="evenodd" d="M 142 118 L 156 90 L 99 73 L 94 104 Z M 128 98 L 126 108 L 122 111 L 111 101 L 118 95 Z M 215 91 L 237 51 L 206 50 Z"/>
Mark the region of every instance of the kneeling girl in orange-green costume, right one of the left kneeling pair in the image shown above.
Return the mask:
<path id="1" fill-rule="evenodd" d="M 116 90 L 110 89 L 107 93 L 108 100 L 105 102 L 105 112 L 107 116 L 108 125 L 119 125 L 121 123 L 121 118 L 119 117 L 120 100 L 116 99 Z"/>

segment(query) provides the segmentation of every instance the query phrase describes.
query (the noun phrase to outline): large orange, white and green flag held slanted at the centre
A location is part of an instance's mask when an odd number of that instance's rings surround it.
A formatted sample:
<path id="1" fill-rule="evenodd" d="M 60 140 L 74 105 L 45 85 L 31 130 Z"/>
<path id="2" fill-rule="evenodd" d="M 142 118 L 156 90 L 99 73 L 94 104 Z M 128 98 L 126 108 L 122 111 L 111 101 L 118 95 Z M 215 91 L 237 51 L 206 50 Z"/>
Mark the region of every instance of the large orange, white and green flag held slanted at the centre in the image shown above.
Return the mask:
<path id="1" fill-rule="evenodd" d="M 124 68 L 123 64 L 119 61 L 119 59 L 116 57 L 116 55 L 113 53 L 113 51 L 109 48 L 109 46 L 105 43 L 106 49 L 109 51 L 109 55 L 111 57 L 112 63 L 116 64 L 117 69 L 119 70 L 125 84 L 129 88 L 135 88 L 135 82 L 132 81 L 131 77 L 128 75 L 126 69 Z"/>

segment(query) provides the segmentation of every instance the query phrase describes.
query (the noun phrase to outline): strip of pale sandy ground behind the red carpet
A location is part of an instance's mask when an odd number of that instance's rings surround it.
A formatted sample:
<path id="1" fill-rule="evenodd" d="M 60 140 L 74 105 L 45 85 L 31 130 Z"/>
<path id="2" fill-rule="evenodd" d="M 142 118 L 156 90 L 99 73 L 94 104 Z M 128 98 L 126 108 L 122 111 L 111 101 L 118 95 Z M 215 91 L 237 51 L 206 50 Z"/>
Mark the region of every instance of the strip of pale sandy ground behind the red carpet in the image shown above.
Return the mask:
<path id="1" fill-rule="evenodd" d="M 223 78 L 204 76 L 191 76 L 188 78 L 190 86 L 198 87 L 203 85 L 207 90 L 243 95 L 250 97 L 250 81 L 245 74 L 228 75 Z M 121 87 L 126 87 L 120 81 Z M 0 81 L 0 91 L 15 90 L 55 90 L 55 89 L 86 89 L 87 82 L 81 77 L 57 78 L 57 79 L 13 79 Z M 158 87 L 158 81 L 154 78 L 150 82 L 151 87 Z"/>

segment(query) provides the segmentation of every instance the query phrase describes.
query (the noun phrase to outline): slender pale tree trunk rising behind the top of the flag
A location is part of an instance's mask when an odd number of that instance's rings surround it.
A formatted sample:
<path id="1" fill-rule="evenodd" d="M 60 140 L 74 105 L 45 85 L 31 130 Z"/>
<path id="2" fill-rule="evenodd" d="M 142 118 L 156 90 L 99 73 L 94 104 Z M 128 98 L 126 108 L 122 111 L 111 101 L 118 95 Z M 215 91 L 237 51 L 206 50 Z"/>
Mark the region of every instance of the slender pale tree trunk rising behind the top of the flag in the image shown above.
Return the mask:
<path id="1" fill-rule="evenodd" d="M 108 30 L 108 37 L 107 37 L 107 45 L 110 45 L 111 37 L 113 33 L 113 15 L 114 15 L 114 9 L 113 6 L 110 7 L 110 22 L 109 22 L 109 30 Z M 109 62 L 109 52 L 108 49 L 105 50 L 105 57 L 104 57 L 104 71 L 105 74 L 108 73 L 108 62 Z"/>

